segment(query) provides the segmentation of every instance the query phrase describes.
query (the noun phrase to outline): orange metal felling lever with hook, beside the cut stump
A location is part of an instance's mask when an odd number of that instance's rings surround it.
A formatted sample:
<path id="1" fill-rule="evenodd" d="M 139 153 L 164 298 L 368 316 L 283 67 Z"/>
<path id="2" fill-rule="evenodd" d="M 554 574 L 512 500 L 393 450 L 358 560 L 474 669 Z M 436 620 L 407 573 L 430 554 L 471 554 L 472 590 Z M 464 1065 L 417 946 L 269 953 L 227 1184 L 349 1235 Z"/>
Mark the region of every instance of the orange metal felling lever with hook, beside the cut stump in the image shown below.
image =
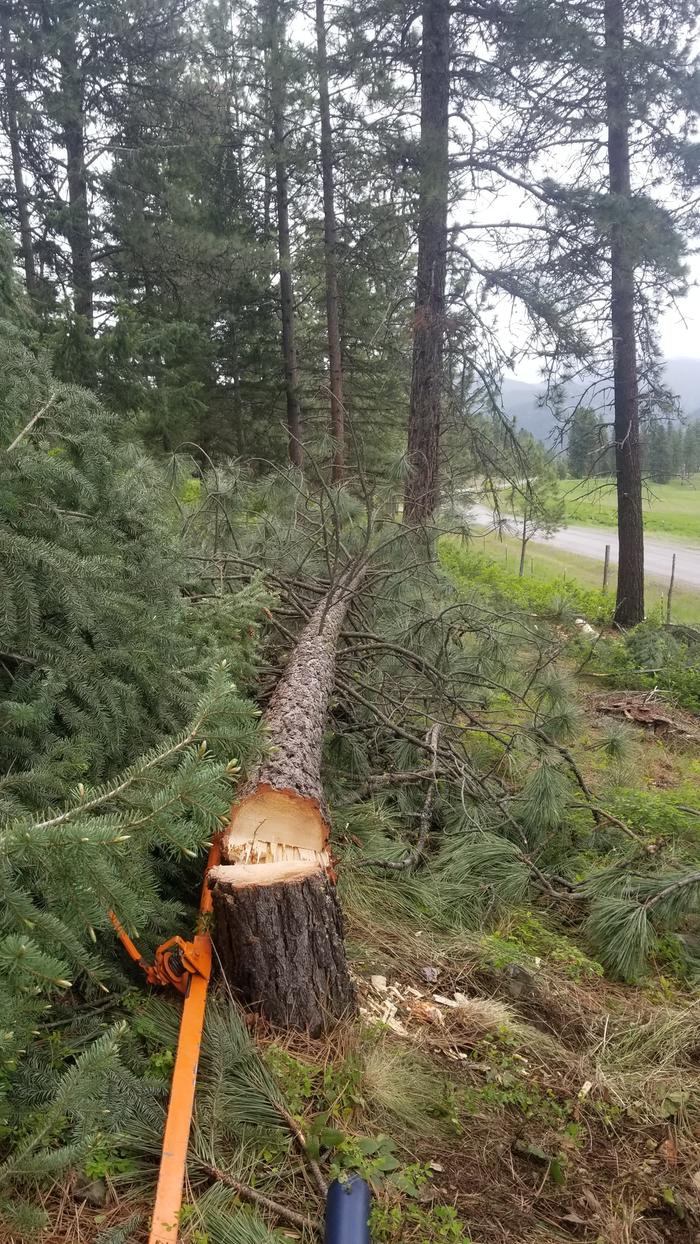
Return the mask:
<path id="1" fill-rule="evenodd" d="M 221 846 L 219 838 L 215 838 L 201 884 L 200 916 L 211 912 L 211 892 L 206 884 L 206 873 L 219 863 L 220 858 Z M 173 985 L 184 994 L 155 1204 L 148 1237 L 149 1244 L 177 1244 L 206 990 L 211 974 L 211 938 L 208 932 L 196 933 L 191 942 L 173 937 L 158 947 L 154 963 L 148 964 L 113 912 L 109 912 L 109 919 L 127 954 L 143 968 L 149 984 Z"/>

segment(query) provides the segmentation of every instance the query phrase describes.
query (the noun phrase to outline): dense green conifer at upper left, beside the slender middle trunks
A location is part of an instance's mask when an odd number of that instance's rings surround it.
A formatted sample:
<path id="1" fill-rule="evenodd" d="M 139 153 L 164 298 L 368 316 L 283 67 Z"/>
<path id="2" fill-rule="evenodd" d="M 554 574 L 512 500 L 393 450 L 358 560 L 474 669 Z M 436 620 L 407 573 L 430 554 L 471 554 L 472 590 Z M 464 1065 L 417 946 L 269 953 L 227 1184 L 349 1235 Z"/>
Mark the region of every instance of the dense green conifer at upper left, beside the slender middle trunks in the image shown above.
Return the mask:
<path id="1" fill-rule="evenodd" d="M 193 442 L 279 462 L 275 261 L 241 169 L 241 151 L 256 142 L 262 158 L 264 143 L 246 121 L 245 46 L 224 10 L 208 16 L 201 44 L 162 50 L 149 92 L 138 81 L 126 92 L 103 183 L 114 312 L 101 391 L 112 408 L 139 412 L 160 449 Z"/>

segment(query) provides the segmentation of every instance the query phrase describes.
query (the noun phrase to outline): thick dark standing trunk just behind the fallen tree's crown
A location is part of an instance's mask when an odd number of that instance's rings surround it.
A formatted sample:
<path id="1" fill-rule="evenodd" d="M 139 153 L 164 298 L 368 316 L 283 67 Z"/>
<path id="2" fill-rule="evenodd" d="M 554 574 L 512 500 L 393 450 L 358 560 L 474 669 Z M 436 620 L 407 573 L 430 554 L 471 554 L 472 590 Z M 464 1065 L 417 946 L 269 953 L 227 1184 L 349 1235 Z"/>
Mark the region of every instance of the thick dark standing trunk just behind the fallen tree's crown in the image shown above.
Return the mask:
<path id="1" fill-rule="evenodd" d="M 420 195 L 404 519 L 438 506 L 438 454 L 448 255 L 449 0 L 424 0 L 420 62 Z"/>

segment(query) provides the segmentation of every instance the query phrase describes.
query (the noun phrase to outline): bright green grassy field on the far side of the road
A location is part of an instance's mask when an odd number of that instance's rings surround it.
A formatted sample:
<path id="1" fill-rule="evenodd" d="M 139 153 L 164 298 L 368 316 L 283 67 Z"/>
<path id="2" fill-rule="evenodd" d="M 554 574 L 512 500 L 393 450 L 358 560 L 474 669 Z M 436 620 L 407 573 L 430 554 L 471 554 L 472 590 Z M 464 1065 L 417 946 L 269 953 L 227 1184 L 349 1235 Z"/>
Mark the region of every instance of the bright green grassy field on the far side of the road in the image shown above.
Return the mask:
<path id="1" fill-rule="evenodd" d="M 612 480 L 567 479 L 561 484 L 567 522 L 614 527 L 615 488 Z M 644 489 L 645 530 L 700 541 L 700 475 L 686 484 L 648 484 Z"/>

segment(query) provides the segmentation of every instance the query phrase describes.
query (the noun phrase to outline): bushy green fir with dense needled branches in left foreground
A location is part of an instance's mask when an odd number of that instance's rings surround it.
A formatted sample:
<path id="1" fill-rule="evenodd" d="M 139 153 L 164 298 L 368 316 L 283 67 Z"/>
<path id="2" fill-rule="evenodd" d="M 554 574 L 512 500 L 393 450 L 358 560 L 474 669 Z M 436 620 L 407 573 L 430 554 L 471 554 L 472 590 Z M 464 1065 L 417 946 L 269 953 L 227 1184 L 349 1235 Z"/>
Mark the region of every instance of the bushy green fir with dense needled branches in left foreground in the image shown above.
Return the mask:
<path id="1" fill-rule="evenodd" d="M 163 932 L 168 858 L 230 802 L 256 714 L 261 592 L 193 603 L 182 478 L 57 381 L 0 280 L 0 1030 L 12 1069 L 48 1000 L 114 979 L 108 912 Z M 180 503 L 182 508 L 182 503 Z M 195 580 L 195 583 L 198 580 Z"/>

